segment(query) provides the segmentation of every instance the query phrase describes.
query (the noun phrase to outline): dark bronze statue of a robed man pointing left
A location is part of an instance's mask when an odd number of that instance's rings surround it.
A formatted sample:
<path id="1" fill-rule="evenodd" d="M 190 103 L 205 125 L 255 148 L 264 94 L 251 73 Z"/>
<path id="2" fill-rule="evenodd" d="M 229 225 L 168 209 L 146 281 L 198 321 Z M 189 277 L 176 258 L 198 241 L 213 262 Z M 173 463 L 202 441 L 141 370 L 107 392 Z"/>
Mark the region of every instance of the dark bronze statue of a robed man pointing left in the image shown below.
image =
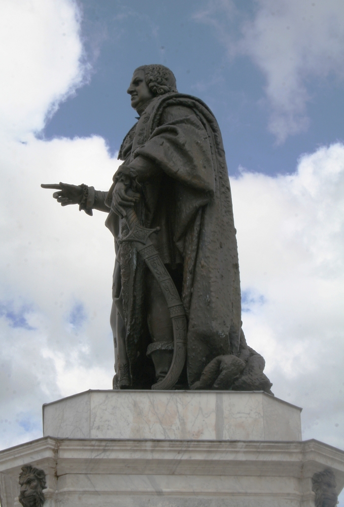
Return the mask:
<path id="1" fill-rule="evenodd" d="M 241 329 L 239 266 L 221 132 L 163 65 L 134 71 L 139 114 L 109 192 L 42 185 L 62 206 L 108 213 L 115 238 L 114 389 L 265 390 Z"/>

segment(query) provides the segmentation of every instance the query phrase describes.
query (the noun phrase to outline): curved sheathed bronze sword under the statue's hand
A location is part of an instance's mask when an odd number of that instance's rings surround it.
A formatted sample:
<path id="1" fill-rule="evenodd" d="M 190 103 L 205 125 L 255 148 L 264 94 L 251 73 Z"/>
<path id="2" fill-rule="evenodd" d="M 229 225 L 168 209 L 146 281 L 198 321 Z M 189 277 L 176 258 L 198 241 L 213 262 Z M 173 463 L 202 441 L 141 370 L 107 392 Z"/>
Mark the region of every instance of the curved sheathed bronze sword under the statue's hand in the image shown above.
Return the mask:
<path id="1" fill-rule="evenodd" d="M 159 252 L 150 239 L 150 235 L 153 232 L 159 231 L 160 227 L 156 229 L 142 227 L 134 209 L 125 208 L 125 210 L 129 233 L 125 238 L 119 239 L 118 243 L 121 244 L 130 241 L 137 248 L 137 251 L 140 253 L 160 285 L 172 320 L 174 349 L 171 366 L 166 376 L 152 385 L 152 389 L 154 390 L 168 390 L 173 388 L 178 381 L 185 364 L 187 336 L 186 314 L 176 285 L 164 266 Z"/>

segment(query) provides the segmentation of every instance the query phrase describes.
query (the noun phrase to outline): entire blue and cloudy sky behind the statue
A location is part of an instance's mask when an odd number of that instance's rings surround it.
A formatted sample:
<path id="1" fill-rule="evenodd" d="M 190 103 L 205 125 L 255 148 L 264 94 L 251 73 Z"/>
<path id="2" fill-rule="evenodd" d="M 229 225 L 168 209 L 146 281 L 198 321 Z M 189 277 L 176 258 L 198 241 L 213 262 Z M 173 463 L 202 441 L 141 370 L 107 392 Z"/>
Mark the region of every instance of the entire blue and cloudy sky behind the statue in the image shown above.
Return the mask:
<path id="1" fill-rule="evenodd" d="M 40 184 L 107 190 L 132 71 L 162 63 L 222 131 L 248 343 L 303 439 L 344 449 L 342 1 L 2 0 L 0 27 L 0 448 L 111 388 L 106 215 Z"/>

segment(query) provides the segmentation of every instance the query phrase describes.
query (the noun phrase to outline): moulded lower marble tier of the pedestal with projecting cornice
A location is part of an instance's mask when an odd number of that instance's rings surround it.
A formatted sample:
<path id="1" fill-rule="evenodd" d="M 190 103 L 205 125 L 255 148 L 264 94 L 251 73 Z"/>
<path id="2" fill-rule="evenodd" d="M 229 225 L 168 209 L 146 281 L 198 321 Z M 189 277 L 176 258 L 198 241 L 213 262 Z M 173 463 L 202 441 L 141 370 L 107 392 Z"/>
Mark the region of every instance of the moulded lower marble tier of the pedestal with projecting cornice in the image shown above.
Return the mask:
<path id="1" fill-rule="evenodd" d="M 47 474 L 44 507 L 314 507 L 312 476 L 344 452 L 315 440 L 54 439 L 0 452 L 2 507 L 19 507 L 24 464 Z"/>

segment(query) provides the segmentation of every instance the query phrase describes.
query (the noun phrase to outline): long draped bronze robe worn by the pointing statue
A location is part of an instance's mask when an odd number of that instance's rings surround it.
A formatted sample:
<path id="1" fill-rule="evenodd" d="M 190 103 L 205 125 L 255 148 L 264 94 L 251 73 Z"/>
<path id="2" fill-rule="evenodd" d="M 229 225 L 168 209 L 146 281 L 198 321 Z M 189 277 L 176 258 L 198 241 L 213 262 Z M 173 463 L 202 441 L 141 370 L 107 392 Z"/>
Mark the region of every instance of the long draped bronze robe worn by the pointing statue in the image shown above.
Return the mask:
<path id="1" fill-rule="evenodd" d="M 136 184 L 141 198 L 135 210 L 144 227 L 160 227 L 151 239 L 179 284 L 188 319 L 186 367 L 192 385 L 214 357 L 237 355 L 240 344 L 236 230 L 217 121 L 195 97 L 155 97 L 119 152 L 126 166 L 134 166 L 137 157 L 154 171 Z M 113 209 L 106 226 L 116 249 L 111 317 L 116 388 L 150 388 L 155 380 L 146 356 L 151 341 L 145 314 L 147 267 L 131 243 L 119 247 L 128 228 Z"/>

